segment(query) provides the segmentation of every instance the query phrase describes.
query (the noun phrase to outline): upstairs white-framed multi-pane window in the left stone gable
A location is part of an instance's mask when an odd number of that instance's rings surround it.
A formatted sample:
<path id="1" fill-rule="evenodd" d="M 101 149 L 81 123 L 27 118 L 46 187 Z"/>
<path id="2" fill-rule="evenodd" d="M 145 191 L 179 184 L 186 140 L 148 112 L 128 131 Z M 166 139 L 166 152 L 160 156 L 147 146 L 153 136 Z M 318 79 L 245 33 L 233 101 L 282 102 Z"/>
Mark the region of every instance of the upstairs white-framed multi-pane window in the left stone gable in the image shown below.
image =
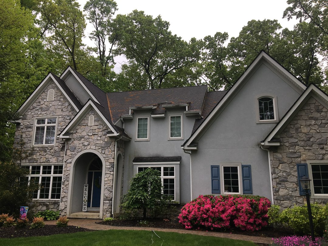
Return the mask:
<path id="1" fill-rule="evenodd" d="M 57 118 L 35 120 L 34 145 L 50 145 L 55 142 Z"/>

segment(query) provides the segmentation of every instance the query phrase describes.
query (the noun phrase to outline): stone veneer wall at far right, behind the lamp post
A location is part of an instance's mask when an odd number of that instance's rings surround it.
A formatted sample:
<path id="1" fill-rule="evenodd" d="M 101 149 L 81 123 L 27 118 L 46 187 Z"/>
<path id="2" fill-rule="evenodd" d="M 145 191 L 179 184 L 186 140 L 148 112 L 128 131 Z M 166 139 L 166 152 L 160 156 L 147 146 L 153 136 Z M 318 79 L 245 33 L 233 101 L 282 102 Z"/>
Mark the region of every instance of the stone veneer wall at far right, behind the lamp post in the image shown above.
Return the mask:
<path id="1" fill-rule="evenodd" d="M 327 111 L 310 97 L 280 134 L 282 145 L 270 150 L 275 204 L 282 208 L 306 203 L 305 196 L 299 195 L 297 163 L 307 160 L 327 160 L 328 163 Z M 311 202 L 325 204 L 328 199 L 311 199 Z"/>

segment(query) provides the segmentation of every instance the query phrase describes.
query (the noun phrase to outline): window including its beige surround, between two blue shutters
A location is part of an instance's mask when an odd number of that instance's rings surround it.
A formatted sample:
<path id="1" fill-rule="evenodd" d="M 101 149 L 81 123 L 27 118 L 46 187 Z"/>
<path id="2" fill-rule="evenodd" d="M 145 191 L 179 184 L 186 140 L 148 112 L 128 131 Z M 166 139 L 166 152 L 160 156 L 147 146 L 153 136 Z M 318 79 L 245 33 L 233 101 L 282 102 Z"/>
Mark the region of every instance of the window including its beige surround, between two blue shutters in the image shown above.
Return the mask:
<path id="1" fill-rule="evenodd" d="M 226 163 L 220 165 L 220 168 L 223 194 L 242 194 L 241 163 Z"/>

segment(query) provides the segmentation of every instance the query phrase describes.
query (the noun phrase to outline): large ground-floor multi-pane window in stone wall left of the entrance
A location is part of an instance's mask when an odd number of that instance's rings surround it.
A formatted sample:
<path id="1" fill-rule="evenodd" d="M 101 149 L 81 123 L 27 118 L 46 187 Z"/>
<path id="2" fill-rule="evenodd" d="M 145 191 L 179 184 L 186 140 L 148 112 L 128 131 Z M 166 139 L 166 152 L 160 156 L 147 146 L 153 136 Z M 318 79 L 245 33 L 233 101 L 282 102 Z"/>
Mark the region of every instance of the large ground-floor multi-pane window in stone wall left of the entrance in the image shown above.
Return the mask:
<path id="1" fill-rule="evenodd" d="M 39 190 L 33 191 L 33 199 L 60 199 L 63 165 L 33 165 L 22 168 L 30 170 L 28 179 L 24 180 L 40 186 Z"/>

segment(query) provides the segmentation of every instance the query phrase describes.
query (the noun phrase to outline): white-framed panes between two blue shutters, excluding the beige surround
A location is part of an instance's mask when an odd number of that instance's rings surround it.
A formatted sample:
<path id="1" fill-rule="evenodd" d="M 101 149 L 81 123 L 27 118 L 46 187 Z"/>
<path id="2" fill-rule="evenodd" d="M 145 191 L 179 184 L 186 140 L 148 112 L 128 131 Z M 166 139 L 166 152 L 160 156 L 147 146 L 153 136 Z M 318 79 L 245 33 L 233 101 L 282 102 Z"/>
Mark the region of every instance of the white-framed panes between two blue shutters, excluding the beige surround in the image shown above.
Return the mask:
<path id="1" fill-rule="evenodd" d="M 239 193 L 239 174 L 237 166 L 223 166 L 224 193 Z"/>

